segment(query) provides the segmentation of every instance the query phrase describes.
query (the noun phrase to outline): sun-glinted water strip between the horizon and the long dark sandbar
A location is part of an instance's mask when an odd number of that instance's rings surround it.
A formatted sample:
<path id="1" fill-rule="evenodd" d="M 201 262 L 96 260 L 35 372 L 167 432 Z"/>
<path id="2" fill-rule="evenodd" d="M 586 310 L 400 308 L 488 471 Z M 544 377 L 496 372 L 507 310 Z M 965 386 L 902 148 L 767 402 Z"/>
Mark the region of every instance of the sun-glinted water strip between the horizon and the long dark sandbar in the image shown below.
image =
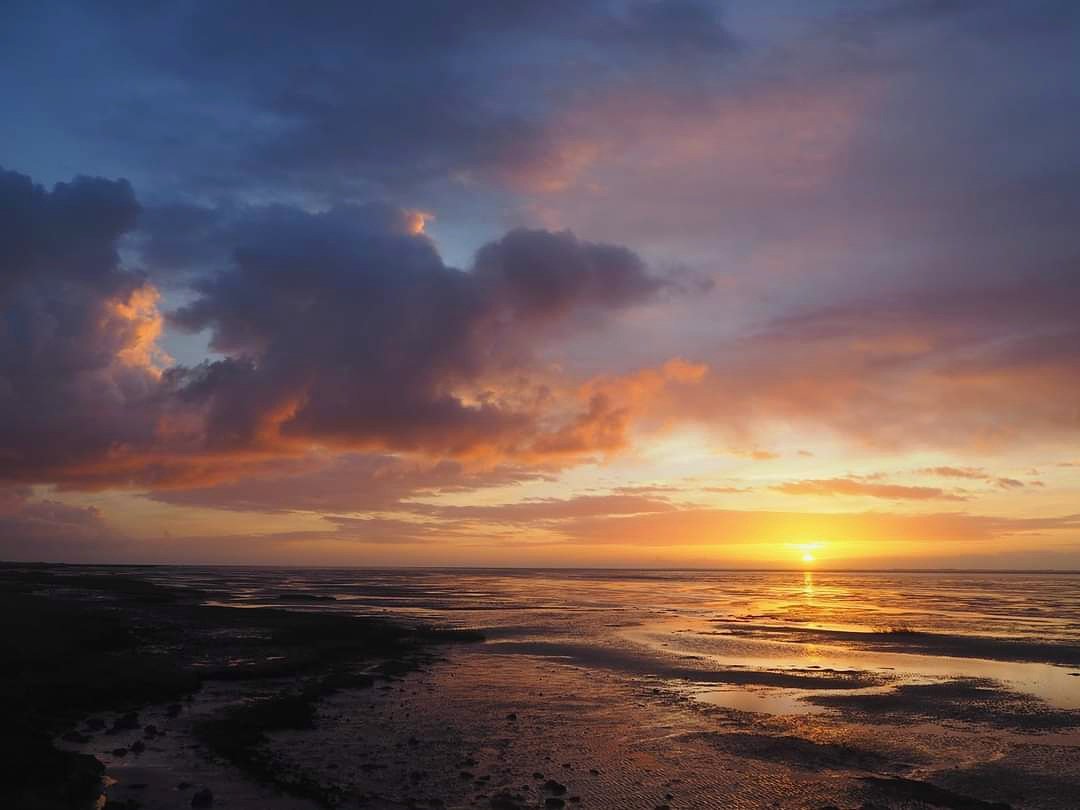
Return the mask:
<path id="1" fill-rule="evenodd" d="M 318 609 L 529 623 L 523 611 L 679 615 L 798 627 L 920 631 L 1080 643 L 1080 573 L 552 569 L 133 568 L 233 604 L 334 596 Z M 295 605 L 291 605 L 295 606 Z"/>

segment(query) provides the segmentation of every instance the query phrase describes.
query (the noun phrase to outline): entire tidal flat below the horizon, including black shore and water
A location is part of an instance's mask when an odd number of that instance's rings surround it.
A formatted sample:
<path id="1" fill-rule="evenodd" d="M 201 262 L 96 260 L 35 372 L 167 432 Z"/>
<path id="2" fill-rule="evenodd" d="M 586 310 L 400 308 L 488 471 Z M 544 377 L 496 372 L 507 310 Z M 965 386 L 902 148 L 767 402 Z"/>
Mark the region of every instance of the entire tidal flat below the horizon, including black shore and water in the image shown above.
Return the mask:
<path id="1" fill-rule="evenodd" d="M 995 576 L 9 566 L 8 784 L 19 808 L 1076 808 L 1080 578 Z"/>

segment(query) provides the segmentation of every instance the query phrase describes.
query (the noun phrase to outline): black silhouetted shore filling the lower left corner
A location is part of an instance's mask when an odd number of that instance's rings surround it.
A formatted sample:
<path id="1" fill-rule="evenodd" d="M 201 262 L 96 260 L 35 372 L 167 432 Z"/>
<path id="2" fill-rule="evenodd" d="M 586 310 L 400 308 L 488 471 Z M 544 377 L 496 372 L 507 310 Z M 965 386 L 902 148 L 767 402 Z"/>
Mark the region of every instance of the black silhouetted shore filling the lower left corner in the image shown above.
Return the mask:
<path id="1" fill-rule="evenodd" d="M 336 690 L 370 687 L 430 661 L 436 645 L 477 638 L 368 618 L 212 607 L 202 596 L 122 572 L 0 567 L 4 807 L 153 807 L 109 795 L 105 765 L 68 748 L 98 738 L 93 747 L 107 740 L 113 760 L 134 759 L 213 683 L 235 685 L 234 700 L 189 724 L 205 755 L 275 794 L 332 806 L 335 796 L 267 752 L 267 732 L 309 728 L 315 703 Z M 145 707 L 162 704 L 165 719 L 149 723 Z M 71 745 L 57 746 L 57 738 Z M 179 804 L 214 806 L 210 785 L 174 789 Z"/>

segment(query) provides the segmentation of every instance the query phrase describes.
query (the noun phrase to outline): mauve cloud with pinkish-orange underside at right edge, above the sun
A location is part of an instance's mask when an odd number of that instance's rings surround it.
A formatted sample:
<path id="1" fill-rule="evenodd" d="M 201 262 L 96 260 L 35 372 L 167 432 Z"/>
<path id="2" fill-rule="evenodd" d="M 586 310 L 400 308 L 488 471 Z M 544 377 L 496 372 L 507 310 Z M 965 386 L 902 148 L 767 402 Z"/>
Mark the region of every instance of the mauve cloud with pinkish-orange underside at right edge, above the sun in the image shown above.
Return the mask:
<path id="1" fill-rule="evenodd" d="M 687 391 L 683 414 L 744 443 L 778 424 L 881 451 L 1074 441 L 1078 310 L 1071 268 L 811 309 L 701 350 L 711 372 Z"/>

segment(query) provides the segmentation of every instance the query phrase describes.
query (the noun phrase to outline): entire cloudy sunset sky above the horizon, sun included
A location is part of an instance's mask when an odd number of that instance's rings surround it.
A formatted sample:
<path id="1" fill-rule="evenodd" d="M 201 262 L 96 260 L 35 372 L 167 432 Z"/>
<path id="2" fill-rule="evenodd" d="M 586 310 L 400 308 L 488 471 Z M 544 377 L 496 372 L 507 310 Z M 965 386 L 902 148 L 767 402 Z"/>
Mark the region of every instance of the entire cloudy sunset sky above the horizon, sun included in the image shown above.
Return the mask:
<path id="1" fill-rule="evenodd" d="M 1078 41 L 9 0 L 0 558 L 1080 569 Z"/>

